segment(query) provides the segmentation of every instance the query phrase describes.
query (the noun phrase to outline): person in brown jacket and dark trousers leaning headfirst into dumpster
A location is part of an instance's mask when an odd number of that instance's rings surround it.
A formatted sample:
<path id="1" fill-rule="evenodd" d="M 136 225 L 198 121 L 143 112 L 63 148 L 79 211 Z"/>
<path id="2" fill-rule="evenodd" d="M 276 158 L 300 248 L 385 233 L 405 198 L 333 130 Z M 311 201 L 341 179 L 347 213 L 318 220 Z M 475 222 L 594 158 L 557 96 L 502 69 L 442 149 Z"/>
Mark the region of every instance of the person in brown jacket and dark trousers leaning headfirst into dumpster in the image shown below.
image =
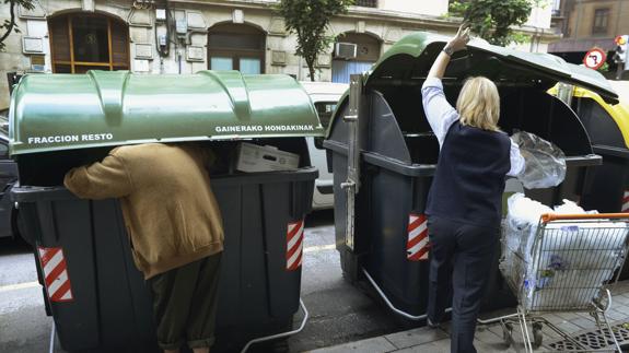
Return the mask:
<path id="1" fill-rule="evenodd" d="M 184 340 L 195 353 L 209 352 L 214 341 L 223 227 L 208 175 L 212 160 L 197 143 L 120 146 L 63 181 L 82 199 L 120 200 L 167 353 Z"/>

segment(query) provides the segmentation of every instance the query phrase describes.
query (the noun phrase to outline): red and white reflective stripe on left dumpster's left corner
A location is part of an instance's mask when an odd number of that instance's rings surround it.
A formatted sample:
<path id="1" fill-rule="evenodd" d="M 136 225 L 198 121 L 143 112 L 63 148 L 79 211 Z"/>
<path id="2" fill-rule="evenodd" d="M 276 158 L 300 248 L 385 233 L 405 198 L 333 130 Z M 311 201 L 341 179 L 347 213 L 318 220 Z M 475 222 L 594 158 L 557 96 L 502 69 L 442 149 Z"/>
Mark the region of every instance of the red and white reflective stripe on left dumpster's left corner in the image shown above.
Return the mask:
<path id="1" fill-rule="evenodd" d="M 63 249 L 38 247 L 37 250 L 50 301 L 69 302 L 74 299 Z"/>

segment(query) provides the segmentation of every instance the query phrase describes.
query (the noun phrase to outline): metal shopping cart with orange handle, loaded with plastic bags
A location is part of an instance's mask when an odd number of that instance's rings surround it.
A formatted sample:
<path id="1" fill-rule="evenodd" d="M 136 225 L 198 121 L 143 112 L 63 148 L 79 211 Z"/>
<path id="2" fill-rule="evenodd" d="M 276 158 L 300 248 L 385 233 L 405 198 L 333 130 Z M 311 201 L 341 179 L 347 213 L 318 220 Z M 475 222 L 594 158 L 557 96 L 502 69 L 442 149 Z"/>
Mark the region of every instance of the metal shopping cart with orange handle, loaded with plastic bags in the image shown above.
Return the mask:
<path id="1" fill-rule="evenodd" d="M 609 289 L 618 281 L 627 255 L 628 227 L 629 213 L 544 214 L 536 228 L 506 224 L 500 271 L 517 296 L 517 313 L 479 322 L 500 321 L 508 345 L 514 343 L 513 327 L 520 325 L 526 352 L 541 345 L 545 326 L 572 343 L 575 349 L 570 352 L 592 352 L 541 317 L 590 313 L 614 342 L 611 349 L 598 351 L 621 352 L 606 311 L 611 306 Z"/>

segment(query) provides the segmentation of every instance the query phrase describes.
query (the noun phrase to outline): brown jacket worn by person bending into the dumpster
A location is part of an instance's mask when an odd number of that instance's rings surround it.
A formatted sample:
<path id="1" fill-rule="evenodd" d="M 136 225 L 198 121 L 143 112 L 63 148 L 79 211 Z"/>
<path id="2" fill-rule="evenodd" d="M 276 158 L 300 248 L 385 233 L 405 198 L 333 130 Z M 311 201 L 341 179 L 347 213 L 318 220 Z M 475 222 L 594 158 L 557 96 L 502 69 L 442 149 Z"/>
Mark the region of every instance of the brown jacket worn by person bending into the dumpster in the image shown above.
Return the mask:
<path id="1" fill-rule="evenodd" d="M 211 158 L 191 143 L 121 146 L 71 169 L 63 184 L 79 198 L 120 199 L 136 266 L 149 279 L 222 251 Z"/>

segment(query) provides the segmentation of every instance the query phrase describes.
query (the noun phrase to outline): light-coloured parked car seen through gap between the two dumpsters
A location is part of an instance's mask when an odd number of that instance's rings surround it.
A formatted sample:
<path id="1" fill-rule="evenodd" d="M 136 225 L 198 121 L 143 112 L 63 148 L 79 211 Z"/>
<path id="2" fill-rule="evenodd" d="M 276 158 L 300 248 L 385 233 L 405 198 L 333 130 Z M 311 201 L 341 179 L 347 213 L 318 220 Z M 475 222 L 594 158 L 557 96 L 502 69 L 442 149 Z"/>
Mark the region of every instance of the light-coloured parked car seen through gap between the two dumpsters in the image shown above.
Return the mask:
<path id="1" fill-rule="evenodd" d="M 301 84 L 311 96 L 317 109 L 321 123 L 327 129 L 336 105 L 349 85 L 346 83 L 308 81 L 303 81 Z M 323 138 L 307 138 L 311 164 L 316 166 L 319 172 L 313 196 L 313 209 L 315 210 L 334 207 L 333 175 L 328 172 L 326 152 L 322 142 Z"/>

